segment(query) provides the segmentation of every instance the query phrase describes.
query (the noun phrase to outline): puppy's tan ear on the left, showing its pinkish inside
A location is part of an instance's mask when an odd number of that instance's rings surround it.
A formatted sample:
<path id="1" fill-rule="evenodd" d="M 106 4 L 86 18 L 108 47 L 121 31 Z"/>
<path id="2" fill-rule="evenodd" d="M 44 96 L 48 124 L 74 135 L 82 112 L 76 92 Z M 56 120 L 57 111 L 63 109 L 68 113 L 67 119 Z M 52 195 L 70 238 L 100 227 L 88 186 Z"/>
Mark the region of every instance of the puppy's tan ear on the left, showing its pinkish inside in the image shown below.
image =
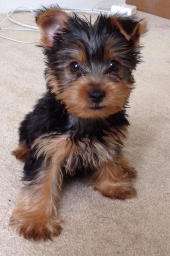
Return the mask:
<path id="1" fill-rule="evenodd" d="M 62 33 L 61 29 L 66 27 L 69 16 L 60 9 L 38 10 L 35 17 L 36 23 L 41 33 L 41 44 L 51 49 L 54 45 L 54 36 L 56 33 Z"/>

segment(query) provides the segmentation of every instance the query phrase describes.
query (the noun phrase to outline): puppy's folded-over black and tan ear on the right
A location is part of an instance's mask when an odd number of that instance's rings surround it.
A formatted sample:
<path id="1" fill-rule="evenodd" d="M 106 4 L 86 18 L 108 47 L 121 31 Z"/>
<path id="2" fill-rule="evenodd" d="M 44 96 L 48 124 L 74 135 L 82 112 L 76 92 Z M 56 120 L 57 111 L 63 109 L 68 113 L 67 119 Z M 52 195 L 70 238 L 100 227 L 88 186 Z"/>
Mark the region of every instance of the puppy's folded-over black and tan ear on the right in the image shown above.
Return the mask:
<path id="1" fill-rule="evenodd" d="M 133 18 L 121 16 L 110 16 L 108 19 L 111 21 L 113 30 L 117 27 L 125 38 L 128 41 L 133 40 L 135 45 L 139 44 L 139 37 L 146 31 L 147 23 L 142 23 L 142 20 L 137 21 Z"/>

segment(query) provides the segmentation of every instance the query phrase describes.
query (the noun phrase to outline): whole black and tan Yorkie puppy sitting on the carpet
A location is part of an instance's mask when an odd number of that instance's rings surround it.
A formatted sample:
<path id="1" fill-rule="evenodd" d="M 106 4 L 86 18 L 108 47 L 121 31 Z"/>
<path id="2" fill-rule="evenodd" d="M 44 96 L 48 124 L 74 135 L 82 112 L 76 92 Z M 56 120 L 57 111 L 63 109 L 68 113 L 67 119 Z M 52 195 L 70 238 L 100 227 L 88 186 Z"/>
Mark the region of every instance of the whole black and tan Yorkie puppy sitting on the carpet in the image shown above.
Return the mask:
<path id="1" fill-rule="evenodd" d="M 85 173 L 101 195 L 136 196 L 135 169 L 122 154 L 125 113 L 140 62 L 146 23 L 100 15 L 92 22 L 58 6 L 36 13 L 47 58 L 47 92 L 19 128 L 13 155 L 24 165 L 24 188 L 10 224 L 26 239 L 52 239 L 62 230 L 56 203 L 63 178 Z"/>

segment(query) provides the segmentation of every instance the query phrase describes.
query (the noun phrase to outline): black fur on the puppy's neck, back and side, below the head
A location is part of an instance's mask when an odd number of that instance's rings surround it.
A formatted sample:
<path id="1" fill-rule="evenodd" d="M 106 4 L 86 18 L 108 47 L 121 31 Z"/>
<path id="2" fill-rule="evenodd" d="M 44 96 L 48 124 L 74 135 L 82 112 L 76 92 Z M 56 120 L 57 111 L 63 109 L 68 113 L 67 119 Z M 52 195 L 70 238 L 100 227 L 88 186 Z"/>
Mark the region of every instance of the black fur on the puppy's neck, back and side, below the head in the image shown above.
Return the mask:
<path id="1" fill-rule="evenodd" d="M 103 136 L 110 132 L 111 128 L 128 126 L 125 110 L 109 116 L 106 119 L 82 119 L 68 113 L 64 105 L 56 100 L 55 95 L 49 90 L 42 99 L 39 100 L 34 110 L 26 115 L 19 128 L 20 143 L 25 143 L 31 147 L 33 141 L 43 134 L 53 133 L 53 136 L 60 134 L 69 134 L 74 143 L 83 141 L 84 138 L 89 140 L 97 139 L 105 144 Z M 118 130 L 119 131 L 119 130 Z M 117 136 L 119 141 L 119 137 Z M 81 162 L 81 159 L 80 159 Z M 43 156 L 38 160 L 34 150 L 26 159 L 24 166 L 23 180 L 33 180 L 43 165 Z M 82 169 L 85 173 L 87 170 Z"/>

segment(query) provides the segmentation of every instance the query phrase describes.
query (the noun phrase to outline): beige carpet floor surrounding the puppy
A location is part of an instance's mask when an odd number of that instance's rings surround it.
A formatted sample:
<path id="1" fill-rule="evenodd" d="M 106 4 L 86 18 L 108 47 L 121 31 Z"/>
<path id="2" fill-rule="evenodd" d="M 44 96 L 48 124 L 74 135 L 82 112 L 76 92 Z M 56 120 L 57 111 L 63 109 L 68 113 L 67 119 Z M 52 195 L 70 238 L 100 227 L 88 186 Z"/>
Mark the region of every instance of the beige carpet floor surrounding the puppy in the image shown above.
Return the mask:
<path id="1" fill-rule="evenodd" d="M 144 12 L 138 16 L 146 17 L 149 32 L 142 38 L 144 63 L 135 74 L 125 148 L 138 171 L 137 198 L 111 200 L 93 191 L 85 180 L 68 182 L 60 206 L 63 232 L 53 242 L 29 242 L 8 227 L 23 168 L 10 153 L 18 143 L 20 121 L 46 89 L 41 49 L 0 38 L 0 255 L 170 255 L 170 20 Z M 4 17 L 0 15 L 0 20 Z M 13 17 L 34 24 L 32 14 Z M 38 32 L 0 30 L 0 34 L 24 41 L 39 39 Z"/>

